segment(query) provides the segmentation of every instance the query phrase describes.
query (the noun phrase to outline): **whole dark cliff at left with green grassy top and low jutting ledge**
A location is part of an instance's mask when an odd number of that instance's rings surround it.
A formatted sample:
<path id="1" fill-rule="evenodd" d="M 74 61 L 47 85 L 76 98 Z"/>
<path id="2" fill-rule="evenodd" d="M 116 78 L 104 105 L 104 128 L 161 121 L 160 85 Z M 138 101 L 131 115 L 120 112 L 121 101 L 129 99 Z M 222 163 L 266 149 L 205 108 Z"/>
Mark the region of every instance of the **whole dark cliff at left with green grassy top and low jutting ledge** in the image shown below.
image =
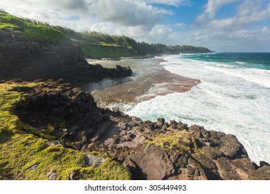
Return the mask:
<path id="1" fill-rule="evenodd" d="M 0 79 L 102 80 L 131 76 L 129 67 L 87 63 L 80 46 L 59 30 L 0 12 Z"/>

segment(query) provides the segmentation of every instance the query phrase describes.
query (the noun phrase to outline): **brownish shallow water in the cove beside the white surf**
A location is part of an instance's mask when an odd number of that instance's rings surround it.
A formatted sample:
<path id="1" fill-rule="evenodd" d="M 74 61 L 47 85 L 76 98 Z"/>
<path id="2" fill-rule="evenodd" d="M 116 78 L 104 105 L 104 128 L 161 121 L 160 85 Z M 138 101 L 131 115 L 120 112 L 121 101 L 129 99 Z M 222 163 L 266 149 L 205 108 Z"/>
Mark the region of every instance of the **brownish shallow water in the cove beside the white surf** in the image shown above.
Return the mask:
<path id="1" fill-rule="evenodd" d="M 199 80 L 184 78 L 165 70 L 161 62 L 164 62 L 163 58 L 102 62 L 100 64 L 103 67 L 129 65 L 133 75 L 130 78 L 107 78 L 80 87 L 91 92 L 99 107 L 110 107 L 125 112 L 136 103 L 174 92 L 186 92 L 200 83 Z"/>

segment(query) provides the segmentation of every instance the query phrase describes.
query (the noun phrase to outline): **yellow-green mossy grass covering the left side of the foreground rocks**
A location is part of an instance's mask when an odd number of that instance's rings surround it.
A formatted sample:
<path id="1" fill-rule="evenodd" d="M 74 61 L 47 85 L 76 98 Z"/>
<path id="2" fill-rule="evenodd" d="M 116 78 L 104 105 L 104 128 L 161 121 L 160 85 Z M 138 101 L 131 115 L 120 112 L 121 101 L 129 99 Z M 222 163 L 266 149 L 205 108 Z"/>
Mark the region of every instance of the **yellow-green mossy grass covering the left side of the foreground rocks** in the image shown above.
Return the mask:
<path id="1" fill-rule="evenodd" d="M 83 179 L 131 179 L 129 170 L 107 155 L 101 166 L 86 166 L 84 153 L 62 145 L 46 146 L 54 136 L 41 133 L 21 123 L 14 114 L 16 103 L 27 94 L 13 91 L 16 87 L 35 87 L 35 84 L 0 84 L 0 179 L 48 179 L 55 170 L 57 179 L 69 179 L 80 172 Z M 38 164 L 36 170 L 30 167 Z"/>

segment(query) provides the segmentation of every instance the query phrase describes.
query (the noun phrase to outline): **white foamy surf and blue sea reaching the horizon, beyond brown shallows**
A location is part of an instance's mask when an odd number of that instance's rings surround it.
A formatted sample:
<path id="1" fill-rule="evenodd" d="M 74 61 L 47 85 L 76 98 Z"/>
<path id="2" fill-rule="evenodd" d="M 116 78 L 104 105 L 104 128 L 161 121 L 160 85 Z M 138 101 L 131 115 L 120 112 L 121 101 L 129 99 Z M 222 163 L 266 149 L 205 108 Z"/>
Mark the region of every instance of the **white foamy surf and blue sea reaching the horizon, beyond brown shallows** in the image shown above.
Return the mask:
<path id="1" fill-rule="evenodd" d="M 132 105 L 124 103 L 122 106 L 128 108 L 121 110 L 143 121 L 156 121 L 162 117 L 166 121 L 203 125 L 206 130 L 234 134 L 252 161 L 270 163 L 270 53 L 165 55 L 156 58 L 165 61 L 151 65 L 201 80 L 201 83 L 187 92 L 156 95 Z M 125 60 L 123 65 L 128 62 Z M 142 64 L 147 67 L 147 63 L 150 64 L 150 59 L 141 60 L 141 72 Z M 132 68 L 136 69 L 136 66 Z"/>

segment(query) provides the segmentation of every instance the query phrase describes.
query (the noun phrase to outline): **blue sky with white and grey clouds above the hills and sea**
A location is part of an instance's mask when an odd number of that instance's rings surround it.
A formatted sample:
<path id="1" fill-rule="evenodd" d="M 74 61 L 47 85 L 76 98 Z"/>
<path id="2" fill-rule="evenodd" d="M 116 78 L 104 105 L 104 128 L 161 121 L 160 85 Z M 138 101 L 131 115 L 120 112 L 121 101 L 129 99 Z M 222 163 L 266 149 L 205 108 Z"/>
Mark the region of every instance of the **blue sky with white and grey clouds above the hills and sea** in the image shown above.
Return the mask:
<path id="1" fill-rule="evenodd" d="M 0 8 L 73 30 L 139 42 L 270 52 L 269 0 L 1 0 Z"/>

